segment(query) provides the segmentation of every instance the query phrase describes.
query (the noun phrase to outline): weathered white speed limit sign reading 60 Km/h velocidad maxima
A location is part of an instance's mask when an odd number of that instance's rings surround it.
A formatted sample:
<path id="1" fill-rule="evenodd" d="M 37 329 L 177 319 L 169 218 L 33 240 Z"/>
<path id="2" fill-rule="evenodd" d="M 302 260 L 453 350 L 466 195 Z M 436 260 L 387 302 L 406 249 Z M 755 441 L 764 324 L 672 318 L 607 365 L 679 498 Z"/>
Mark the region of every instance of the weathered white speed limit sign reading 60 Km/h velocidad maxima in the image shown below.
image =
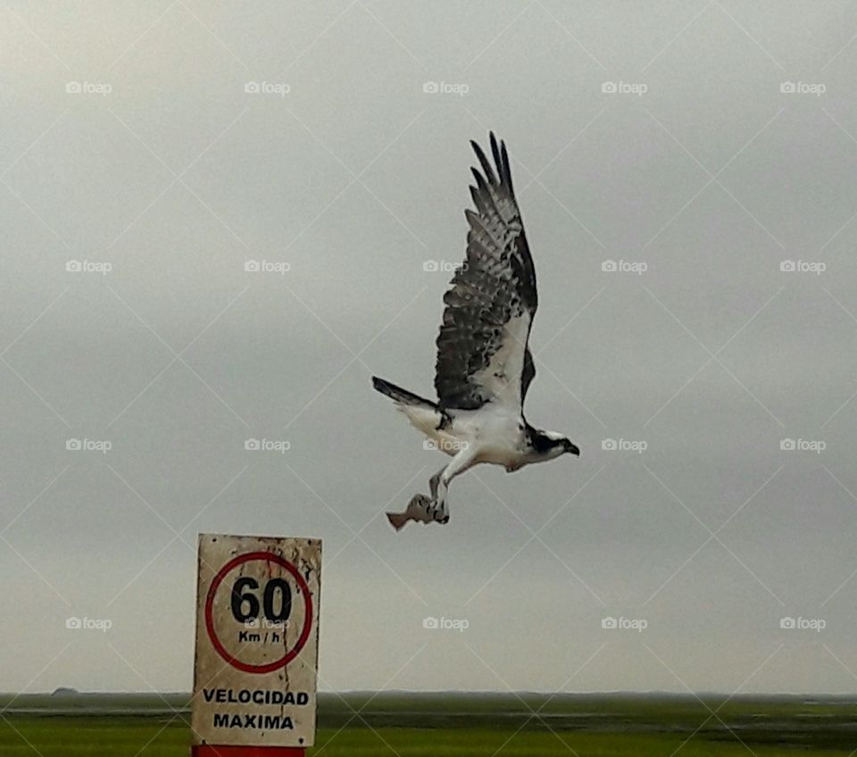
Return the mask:
<path id="1" fill-rule="evenodd" d="M 200 534 L 195 745 L 312 746 L 319 539 Z"/>

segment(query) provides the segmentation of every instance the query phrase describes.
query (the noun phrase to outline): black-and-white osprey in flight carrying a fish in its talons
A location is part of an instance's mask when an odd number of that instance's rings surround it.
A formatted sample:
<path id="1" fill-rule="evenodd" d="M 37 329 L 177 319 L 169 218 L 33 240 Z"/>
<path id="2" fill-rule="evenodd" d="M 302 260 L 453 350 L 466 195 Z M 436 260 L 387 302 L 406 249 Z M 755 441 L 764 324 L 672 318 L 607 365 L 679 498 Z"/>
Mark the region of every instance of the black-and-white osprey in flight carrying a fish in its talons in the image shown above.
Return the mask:
<path id="1" fill-rule="evenodd" d="M 453 458 L 430 478 L 430 496 L 413 495 L 404 512 L 387 512 L 396 530 L 409 520 L 448 522 L 450 482 L 480 462 L 512 472 L 563 453 L 580 454 L 570 439 L 533 428 L 524 418 L 524 399 L 536 375 L 527 345 L 538 304 L 536 270 L 505 144 L 497 146 L 491 134 L 495 168 L 476 142 L 470 145 L 482 172 L 470 169 L 476 179 L 470 187 L 476 211 L 464 212 L 470 224 L 467 254 L 444 295 L 437 402 L 372 377 L 372 385 L 395 401 L 412 426 Z"/>

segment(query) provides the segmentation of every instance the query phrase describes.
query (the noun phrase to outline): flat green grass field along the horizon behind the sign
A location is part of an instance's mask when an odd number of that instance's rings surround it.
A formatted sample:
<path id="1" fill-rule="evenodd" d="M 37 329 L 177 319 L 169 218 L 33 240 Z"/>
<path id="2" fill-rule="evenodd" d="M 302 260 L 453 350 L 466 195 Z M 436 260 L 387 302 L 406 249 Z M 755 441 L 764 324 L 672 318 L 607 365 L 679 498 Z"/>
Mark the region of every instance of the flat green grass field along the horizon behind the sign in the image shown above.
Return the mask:
<path id="1" fill-rule="evenodd" d="M 3 757 L 187 755 L 186 695 L 0 697 Z M 857 705 L 824 697 L 321 695 L 311 755 L 848 755 Z M 355 715 L 354 711 L 359 712 Z M 537 717 L 533 716 L 537 711 Z M 717 715 L 712 716 L 711 711 Z"/>

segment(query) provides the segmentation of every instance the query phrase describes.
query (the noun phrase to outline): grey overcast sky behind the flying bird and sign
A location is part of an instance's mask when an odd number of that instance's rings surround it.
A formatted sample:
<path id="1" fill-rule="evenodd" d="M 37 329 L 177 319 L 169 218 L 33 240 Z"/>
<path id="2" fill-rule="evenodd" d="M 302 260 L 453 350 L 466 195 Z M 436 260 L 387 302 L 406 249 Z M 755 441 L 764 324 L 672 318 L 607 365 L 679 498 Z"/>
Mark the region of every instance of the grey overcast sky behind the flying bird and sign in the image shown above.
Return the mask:
<path id="1" fill-rule="evenodd" d="M 4 4 L 0 690 L 188 690 L 201 531 L 323 540 L 322 689 L 857 689 L 855 36 L 833 0 Z M 396 534 L 445 459 L 370 375 L 432 393 L 489 129 L 528 420 L 582 453 Z"/>

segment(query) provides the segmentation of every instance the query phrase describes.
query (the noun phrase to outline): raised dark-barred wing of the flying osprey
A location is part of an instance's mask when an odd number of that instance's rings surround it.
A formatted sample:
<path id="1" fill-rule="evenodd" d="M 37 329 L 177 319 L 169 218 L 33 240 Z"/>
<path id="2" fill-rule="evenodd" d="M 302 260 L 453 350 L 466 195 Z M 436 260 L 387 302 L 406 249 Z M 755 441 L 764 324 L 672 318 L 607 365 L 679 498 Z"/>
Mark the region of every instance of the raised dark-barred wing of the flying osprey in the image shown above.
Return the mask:
<path id="1" fill-rule="evenodd" d="M 444 295 L 435 388 L 442 408 L 475 410 L 488 402 L 520 412 L 536 375 L 527 341 L 537 308 L 536 271 L 512 189 L 503 142 L 491 134 L 495 169 L 475 143 L 482 167 L 470 195 L 476 212 L 467 255 Z"/>

